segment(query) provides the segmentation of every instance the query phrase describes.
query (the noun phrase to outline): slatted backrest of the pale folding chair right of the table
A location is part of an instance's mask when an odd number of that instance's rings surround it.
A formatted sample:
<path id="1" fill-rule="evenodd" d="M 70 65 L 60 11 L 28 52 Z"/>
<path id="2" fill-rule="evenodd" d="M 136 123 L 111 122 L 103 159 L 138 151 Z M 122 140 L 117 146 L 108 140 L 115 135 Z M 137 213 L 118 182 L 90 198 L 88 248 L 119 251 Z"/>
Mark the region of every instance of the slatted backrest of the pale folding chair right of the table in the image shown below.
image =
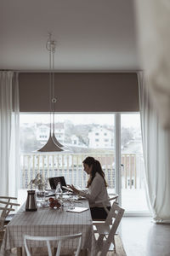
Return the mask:
<path id="1" fill-rule="evenodd" d="M 121 207 L 119 207 L 119 205 L 117 205 L 116 201 L 113 203 L 111 210 L 109 211 L 107 218 L 105 219 L 105 224 L 112 224 L 113 223 L 113 218 L 114 220 L 114 224 L 116 226 L 116 224 L 119 224 L 122 218 L 122 215 L 124 213 L 124 209 L 122 209 Z M 116 226 L 117 229 L 118 225 Z"/>

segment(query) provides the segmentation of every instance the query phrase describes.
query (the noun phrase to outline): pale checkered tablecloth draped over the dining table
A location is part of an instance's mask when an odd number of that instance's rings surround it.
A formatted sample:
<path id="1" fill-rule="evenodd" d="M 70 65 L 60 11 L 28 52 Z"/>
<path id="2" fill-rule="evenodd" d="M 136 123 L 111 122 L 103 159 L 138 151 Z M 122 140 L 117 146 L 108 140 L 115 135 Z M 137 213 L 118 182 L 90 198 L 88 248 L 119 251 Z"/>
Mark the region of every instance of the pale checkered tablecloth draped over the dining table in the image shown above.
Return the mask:
<path id="1" fill-rule="evenodd" d="M 77 207 L 89 208 L 86 200 L 76 204 Z M 82 233 L 82 249 L 89 249 L 91 255 L 96 255 L 96 243 L 89 209 L 81 213 L 60 212 L 60 210 L 51 208 L 38 208 L 37 212 L 26 212 L 23 205 L 7 226 L 1 255 L 8 255 L 8 250 L 13 247 L 24 247 L 23 235 L 65 236 L 77 233 Z M 34 246 L 42 246 L 42 243 L 36 241 Z M 63 246 L 72 249 L 77 247 L 77 241 L 67 241 Z"/>

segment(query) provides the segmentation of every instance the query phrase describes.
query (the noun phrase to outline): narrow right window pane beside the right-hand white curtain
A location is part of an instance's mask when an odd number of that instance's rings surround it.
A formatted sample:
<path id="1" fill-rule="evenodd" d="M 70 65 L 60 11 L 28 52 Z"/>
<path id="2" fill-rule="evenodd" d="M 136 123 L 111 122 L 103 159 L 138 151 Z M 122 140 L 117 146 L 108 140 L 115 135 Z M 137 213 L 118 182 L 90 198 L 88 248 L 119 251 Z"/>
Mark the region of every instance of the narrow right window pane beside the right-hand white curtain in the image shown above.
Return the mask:
<path id="1" fill-rule="evenodd" d="M 122 207 L 149 211 L 144 189 L 144 158 L 139 113 L 121 114 Z"/>

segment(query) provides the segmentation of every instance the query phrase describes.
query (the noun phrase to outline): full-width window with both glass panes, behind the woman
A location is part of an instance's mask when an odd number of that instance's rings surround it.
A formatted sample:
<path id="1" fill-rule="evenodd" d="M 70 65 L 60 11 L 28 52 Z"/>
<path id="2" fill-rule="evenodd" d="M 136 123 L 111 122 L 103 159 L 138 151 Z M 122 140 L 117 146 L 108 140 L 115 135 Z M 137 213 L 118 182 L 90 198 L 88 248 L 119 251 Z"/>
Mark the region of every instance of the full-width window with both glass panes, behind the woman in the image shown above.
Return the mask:
<path id="1" fill-rule="evenodd" d="M 121 120 L 121 130 L 116 133 L 120 134 L 120 140 L 115 137 L 115 129 L 118 129 L 115 127 L 119 127 L 116 125 L 116 116 Z M 82 172 L 82 160 L 90 155 L 101 163 L 109 191 L 114 193 L 117 192 L 115 188 L 120 189 L 119 197 L 122 196 L 122 207 L 126 212 L 148 211 L 144 195 L 144 160 L 139 113 L 59 113 L 55 120 L 58 120 L 55 127 L 63 127 L 59 134 L 55 133 L 57 139 L 71 151 L 41 154 L 37 149 L 42 148 L 48 141 L 49 115 L 20 114 L 22 189 L 28 188 L 28 183 L 37 172 L 46 178 L 64 175 L 66 183 L 85 188 L 88 176 Z M 40 124 L 48 127 L 45 134 L 40 133 Z M 116 186 L 116 159 L 119 158 L 115 148 L 116 141 L 121 141 L 122 170 L 119 175 L 122 178 L 122 188 L 119 183 Z"/>

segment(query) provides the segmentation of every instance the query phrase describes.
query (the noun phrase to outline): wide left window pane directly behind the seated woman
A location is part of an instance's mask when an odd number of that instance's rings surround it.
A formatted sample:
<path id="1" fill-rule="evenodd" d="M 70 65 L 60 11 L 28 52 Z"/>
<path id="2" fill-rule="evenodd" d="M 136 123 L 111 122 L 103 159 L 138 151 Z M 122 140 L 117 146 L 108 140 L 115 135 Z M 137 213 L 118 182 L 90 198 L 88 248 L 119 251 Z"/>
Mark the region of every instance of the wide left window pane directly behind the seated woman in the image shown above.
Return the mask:
<path id="1" fill-rule="evenodd" d="M 22 189 L 38 172 L 46 178 L 65 176 L 67 183 L 85 187 L 88 177 L 82 172 L 82 160 L 88 155 L 100 161 L 109 188 L 115 189 L 114 114 L 57 114 L 55 135 L 69 149 L 59 154 L 37 152 L 48 141 L 48 135 L 48 114 L 20 114 Z"/>

